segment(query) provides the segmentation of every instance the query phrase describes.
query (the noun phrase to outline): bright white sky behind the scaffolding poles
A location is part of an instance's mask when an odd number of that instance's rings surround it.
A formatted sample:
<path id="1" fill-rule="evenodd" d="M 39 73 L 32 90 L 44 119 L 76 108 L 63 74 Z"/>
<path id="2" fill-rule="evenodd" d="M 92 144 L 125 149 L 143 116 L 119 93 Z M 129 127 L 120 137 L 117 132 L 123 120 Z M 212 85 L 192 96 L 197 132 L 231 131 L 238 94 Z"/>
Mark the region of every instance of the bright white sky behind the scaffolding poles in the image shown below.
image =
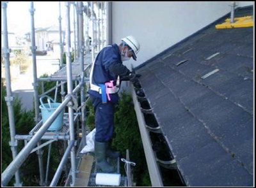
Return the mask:
<path id="1" fill-rule="evenodd" d="M 31 32 L 31 15 L 29 12 L 30 8 L 31 1 L 8 1 L 6 8 L 8 32 L 16 33 L 18 35 Z M 35 28 L 48 27 L 53 24 L 58 25 L 58 17 L 60 15 L 59 1 L 34 1 L 34 8 Z M 62 21 L 63 15 L 65 13 L 63 8 L 64 2 L 61 2 Z M 1 12 L 3 13 L 3 11 Z"/>

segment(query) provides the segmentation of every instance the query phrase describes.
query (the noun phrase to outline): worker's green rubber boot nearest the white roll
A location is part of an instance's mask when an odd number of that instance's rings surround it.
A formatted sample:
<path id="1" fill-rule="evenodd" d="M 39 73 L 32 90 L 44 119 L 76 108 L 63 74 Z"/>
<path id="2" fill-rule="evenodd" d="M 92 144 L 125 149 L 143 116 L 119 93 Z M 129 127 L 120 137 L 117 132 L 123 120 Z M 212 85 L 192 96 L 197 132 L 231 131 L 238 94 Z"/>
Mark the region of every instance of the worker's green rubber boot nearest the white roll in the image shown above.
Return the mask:
<path id="1" fill-rule="evenodd" d="M 103 172 L 112 172 L 114 167 L 111 166 L 106 157 L 106 142 L 97 142 L 94 143 L 94 154 L 96 159 L 96 166 Z"/>

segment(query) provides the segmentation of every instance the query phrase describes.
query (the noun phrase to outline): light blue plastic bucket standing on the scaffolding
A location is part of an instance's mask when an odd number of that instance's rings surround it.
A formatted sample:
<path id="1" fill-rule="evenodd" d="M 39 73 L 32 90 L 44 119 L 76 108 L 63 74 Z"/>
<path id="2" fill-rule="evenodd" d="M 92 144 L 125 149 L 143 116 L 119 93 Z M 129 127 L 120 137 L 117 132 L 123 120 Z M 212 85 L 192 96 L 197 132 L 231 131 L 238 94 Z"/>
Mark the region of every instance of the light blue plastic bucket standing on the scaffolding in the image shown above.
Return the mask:
<path id="1" fill-rule="evenodd" d="M 40 98 L 41 105 L 39 106 L 42 113 L 43 123 L 45 123 L 45 121 L 49 119 L 52 113 L 61 105 L 61 103 L 51 103 L 51 101 L 54 102 L 54 100 L 49 96 L 46 96 L 46 97 L 47 97 L 48 104 L 47 103 L 44 104 L 42 102 L 42 98 Z M 54 120 L 54 122 L 52 122 L 51 126 L 47 129 L 47 131 L 58 131 L 63 127 L 63 114 L 64 114 L 64 109 L 61 111 L 58 117 Z"/>

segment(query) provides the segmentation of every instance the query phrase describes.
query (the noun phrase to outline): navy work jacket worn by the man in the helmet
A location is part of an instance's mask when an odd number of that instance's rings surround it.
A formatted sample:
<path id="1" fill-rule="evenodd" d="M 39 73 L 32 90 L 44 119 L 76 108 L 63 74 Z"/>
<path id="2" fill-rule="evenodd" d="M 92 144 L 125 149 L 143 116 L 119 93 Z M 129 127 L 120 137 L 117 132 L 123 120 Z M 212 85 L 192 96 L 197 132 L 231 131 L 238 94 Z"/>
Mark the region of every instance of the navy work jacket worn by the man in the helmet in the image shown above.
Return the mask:
<path id="1" fill-rule="evenodd" d="M 116 79 L 118 75 L 114 75 L 114 73 L 111 73 L 109 71 L 109 66 L 114 63 L 118 62 L 122 64 L 121 61 L 121 54 L 120 50 L 118 48 L 118 45 L 115 43 L 113 45 L 108 45 L 102 50 L 100 50 L 99 54 L 97 55 L 95 62 L 94 62 L 94 68 L 93 68 L 93 74 L 92 75 L 92 83 L 94 85 L 98 85 L 98 83 L 106 83 L 110 80 L 114 80 L 114 85 L 116 85 Z M 121 81 L 120 81 L 121 84 Z M 88 90 L 88 94 L 92 94 L 93 96 L 97 98 L 101 98 L 101 94 L 95 90 Z M 118 94 L 109 94 L 111 98 L 112 103 L 117 103 L 118 101 Z"/>

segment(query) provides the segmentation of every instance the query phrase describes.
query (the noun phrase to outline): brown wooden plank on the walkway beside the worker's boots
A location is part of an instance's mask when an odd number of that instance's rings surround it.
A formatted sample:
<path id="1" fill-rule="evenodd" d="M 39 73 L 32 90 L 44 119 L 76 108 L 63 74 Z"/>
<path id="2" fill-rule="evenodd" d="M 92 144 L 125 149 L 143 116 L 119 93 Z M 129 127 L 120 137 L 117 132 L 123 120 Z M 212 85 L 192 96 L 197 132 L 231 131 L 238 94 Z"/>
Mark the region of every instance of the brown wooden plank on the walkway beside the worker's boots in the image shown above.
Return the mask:
<path id="1" fill-rule="evenodd" d="M 78 169 L 74 187 L 88 186 L 88 182 L 92 171 L 93 158 L 94 157 L 92 155 L 83 155 L 83 158 Z"/>

